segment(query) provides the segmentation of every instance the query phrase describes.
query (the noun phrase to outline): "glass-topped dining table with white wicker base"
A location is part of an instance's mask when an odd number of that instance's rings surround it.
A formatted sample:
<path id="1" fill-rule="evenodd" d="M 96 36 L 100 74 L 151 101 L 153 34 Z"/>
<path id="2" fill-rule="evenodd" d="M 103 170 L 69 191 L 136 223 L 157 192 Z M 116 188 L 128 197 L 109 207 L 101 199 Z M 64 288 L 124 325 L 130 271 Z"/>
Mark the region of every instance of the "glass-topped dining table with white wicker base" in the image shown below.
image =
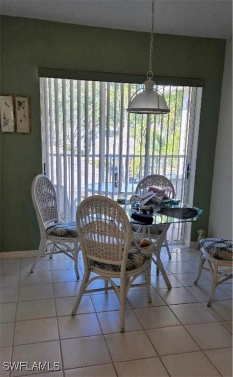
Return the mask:
<path id="1" fill-rule="evenodd" d="M 168 289 L 172 288 L 166 270 L 160 259 L 160 251 L 168 228 L 173 223 L 196 221 L 203 213 L 203 210 L 188 206 L 184 203 L 164 205 L 158 207 L 152 206 L 153 213 L 147 215 L 147 209 L 134 209 L 126 200 L 126 204 L 121 205 L 128 215 L 129 221 L 132 224 L 133 241 L 140 248 L 142 239 L 148 239 L 150 246 L 147 251 L 151 251 L 153 255 L 153 262 L 156 265 L 157 274 L 161 272 Z M 152 210 L 150 211 L 152 212 Z M 134 216 L 133 214 L 139 215 Z M 142 216 L 141 216 L 142 215 Z M 145 217 L 146 215 L 146 217 Z M 133 218 L 133 217 L 136 217 Z M 149 218 L 149 219 L 148 219 Z M 150 224 L 145 223 L 150 221 Z"/>

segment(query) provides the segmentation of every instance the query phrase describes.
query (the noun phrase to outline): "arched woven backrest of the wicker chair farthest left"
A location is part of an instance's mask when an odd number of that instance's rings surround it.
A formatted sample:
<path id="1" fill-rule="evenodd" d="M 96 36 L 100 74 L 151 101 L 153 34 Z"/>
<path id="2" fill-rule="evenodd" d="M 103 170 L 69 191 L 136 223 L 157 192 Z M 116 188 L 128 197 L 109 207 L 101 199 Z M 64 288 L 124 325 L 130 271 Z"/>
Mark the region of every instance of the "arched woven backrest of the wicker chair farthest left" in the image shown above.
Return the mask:
<path id="1" fill-rule="evenodd" d="M 37 175 L 32 182 L 31 196 L 43 232 L 47 224 L 58 221 L 56 191 L 50 179 Z"/>

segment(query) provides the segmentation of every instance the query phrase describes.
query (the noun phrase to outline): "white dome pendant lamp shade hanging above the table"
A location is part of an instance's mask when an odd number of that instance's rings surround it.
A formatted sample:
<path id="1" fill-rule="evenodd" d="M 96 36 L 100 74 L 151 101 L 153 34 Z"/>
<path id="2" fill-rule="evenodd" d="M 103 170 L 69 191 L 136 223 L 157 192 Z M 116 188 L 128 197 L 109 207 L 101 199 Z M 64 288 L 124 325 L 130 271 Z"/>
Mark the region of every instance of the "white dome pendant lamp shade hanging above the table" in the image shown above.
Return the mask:
<path id="1" fill-rule="evenodd" d="M 170 112 L 163 95 L 154 87 L 155 81 L 147 80 L 144 84 L 143 91 L 138 94 L 136 92 L 132 96 L 127 111 L 136 114 L 166 114 Z"/>

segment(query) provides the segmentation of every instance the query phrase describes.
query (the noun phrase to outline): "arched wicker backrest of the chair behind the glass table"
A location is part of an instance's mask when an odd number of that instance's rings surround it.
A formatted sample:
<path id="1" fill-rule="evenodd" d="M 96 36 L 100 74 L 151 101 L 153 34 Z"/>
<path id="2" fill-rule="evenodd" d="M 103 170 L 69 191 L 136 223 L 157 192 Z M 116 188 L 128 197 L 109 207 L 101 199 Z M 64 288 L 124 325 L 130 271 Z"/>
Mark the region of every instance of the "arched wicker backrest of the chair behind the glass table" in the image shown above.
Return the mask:
<path id="1" fill-rule="evenodd" d="M 142 194 L 147 191 L 147 189 L 150 186 L 164 186 L 164 187 L 171 187 L 172 192 L 170 193 L 170 197 L 174 198 L 175 197 L 175 188 L 171 181 L 169 181 L 168 178 L 164 177 L 163 175 L 158 175 L 158 174 L 152 174 L 148 175 L 147 177 L 143 178 L 137 185 L 135 194 Z"/>

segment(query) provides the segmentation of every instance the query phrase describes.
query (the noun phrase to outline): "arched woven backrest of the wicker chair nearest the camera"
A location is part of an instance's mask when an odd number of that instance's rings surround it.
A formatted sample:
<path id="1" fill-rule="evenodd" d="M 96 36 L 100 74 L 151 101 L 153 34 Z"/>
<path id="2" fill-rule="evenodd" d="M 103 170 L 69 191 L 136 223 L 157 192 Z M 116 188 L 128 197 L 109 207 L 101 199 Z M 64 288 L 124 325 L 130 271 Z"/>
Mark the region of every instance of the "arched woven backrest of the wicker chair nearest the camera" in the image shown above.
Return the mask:
<path id="1" fill-rule="evenodd" d="M 76 221 L 84 263 L 94 260 L 126 269 L 132 231 L 119 204 L 104 196 L 89 196 L 78 205 Z"/>

